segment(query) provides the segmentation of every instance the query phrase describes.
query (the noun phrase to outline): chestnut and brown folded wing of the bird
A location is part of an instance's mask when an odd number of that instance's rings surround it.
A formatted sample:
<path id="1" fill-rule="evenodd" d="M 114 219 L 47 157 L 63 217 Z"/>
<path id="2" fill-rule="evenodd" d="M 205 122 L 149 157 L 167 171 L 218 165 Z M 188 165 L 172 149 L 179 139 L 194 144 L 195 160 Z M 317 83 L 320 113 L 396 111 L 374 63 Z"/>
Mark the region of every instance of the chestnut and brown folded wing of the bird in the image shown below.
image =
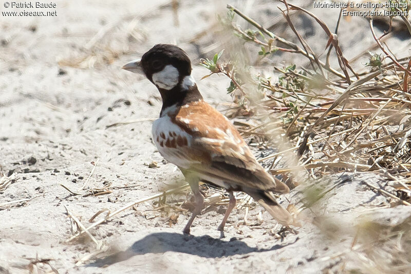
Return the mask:
<path id="1" fill-rule="evenodd" d="M 289 191 L 259 165 L 234 125 L 208 103 L 191 102 L 170 118 L 193 136 L 189 147 L 180 148 L 186 158 L 193 158 L 192 171 L 234 184 L 233 188 Z"/>

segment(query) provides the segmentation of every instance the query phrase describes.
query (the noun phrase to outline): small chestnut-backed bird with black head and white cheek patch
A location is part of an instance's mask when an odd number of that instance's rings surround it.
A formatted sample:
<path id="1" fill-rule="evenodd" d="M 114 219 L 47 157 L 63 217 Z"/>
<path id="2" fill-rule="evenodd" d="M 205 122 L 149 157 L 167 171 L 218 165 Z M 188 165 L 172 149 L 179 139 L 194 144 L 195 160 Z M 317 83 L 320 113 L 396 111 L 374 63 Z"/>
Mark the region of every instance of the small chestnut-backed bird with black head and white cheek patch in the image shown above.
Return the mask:
<path id="1" fill-rule="evenodd" d="M 160 92 L 163 105 L 160 118 L 153 123 L 153 140 L 160 154 L 181 170 L 195 198 L 185 234 L 190 233 L 194 218 L 203 208 L 199 181 L 225 188 L 229 193 L 227 211 L 217 228 L 221 233 L 236 204 L 233 191 L 249 194 L 282 225 L 289 227 L 294 223 L 293 216 L 270 194 L 287 193 L 289 188 L 259 165 L 234 125 L 203 100 L 184 50 L 158 44 L 141 60 L 122 68 L 145 75 Z"/>

